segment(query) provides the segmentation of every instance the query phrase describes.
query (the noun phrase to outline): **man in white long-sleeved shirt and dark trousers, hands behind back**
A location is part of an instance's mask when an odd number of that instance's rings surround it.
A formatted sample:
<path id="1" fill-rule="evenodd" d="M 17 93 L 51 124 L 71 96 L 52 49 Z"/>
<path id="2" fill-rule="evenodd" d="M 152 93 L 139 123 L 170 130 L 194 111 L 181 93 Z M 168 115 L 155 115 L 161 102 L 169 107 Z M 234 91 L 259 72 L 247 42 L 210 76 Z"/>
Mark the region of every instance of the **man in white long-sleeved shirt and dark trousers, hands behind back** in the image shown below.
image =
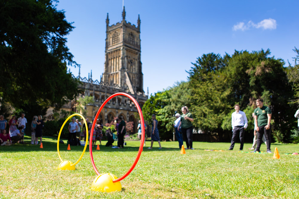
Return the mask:
<path id="1" fill-rule="evenodd" d="M 240 111 L 239 104 L 235 105 L 235 112 L 231 114 L 231 127 L 233 128 L 233 136 L 231 138 L 231 146 L 228 150 L 233 150 L 238 134 L 240 137 L 240 150 L 243 150 L 244 145 L 244 130 L 248 126 L 248 121 L 245 112 Z"/>

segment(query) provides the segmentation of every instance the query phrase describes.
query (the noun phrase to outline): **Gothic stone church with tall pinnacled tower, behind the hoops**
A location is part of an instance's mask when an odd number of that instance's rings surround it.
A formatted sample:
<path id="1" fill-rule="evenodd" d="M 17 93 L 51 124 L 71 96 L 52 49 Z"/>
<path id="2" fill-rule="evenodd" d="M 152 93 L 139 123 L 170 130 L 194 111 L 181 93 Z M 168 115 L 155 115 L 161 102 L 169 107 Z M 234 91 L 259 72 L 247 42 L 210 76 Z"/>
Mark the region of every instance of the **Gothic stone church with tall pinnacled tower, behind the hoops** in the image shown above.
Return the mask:
<path id="1" fill-rule="evenodd" d="M 88 78 L 78 78 L 84 90 L 82 96 L 92 96 L 93 104 L 85 108 L 87 118 L 90 121 L 95 117 L 102 103 L 116 92 L 125 92 L 134 97 L 142 107 L 148 99 L 143 90 L 143 73 L 141 63 L 140 17 L 138 15 L 137 27 L 125 20 L 126 12 L 123 7 L 121 22 L 109 26 L 109 16 L 106 18 L 106 46 L 104 72 L 100 81 L 92 79 L 92 73 Z M 62 107 L 65 110 L 75 109 L 76 101 L 71 101 Z M 113 121 L 115 117 L 123 116 L 125 121 L 134 122 L 137 132 L 138 110 L 134 103 L 125 96 L 112 98 L 103 108 L 98 119 L 105 125 Z M 137 116 L 137 117 L 136 117 Z M 97 119 L 97 118 L 96 118 Z"/>

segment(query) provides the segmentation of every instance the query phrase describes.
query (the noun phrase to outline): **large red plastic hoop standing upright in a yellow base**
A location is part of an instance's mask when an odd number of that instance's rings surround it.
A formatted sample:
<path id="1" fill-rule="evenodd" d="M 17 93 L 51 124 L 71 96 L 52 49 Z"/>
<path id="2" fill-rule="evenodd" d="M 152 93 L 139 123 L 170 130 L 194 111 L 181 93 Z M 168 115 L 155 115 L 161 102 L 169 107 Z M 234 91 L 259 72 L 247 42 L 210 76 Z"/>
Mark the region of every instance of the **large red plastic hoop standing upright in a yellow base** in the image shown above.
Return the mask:
<path id="1" fill-rule="evenodd" d="M 102 111 L 103 107 L 107 104 L 107 102 L 110 99 L 112 99 L 113 97 L 118 96 L 118 95 L 124 95 L 124 96 L 130 98 L 134 102 L 135 106 L 137 107 L 138 113 L 139 113 L 139 116 L 140 116 L 140 121 L 141 121 L 141 141 L 140 141 L 140 146 L 139 146 L 139 150 L 138 150 L 138 153 L 137 153 L 137 157 L 136 157 L 135 161 L 133 162 L 133 164 L 132 164 L 131 168 L 129 169 L 129 171 L 127 171 L 122 177 L 113 180 L 113 182 L 118 182 L 118 181 L 123 180 L 124 178 L 126 178 L 132 172 L 132 170 L 134 169 L 134 167 L 136 166 L 136 164 L 137 164 L 137 162 L 140 158 L 140 155 L 141 155 L 141 152 L 142 152 L 142 149 L 143 149 L 143 144 L 144 144 L 144 136 L 145 136 L 144 135 L 144 132 L 145 132 L 144 119 L 143 119 L 143 115 L 142 115 L 142 112 L 141 112 L 141 108 L 140 108 L 139 104 L 137 103 L 137 101 L 131 95 L 129 95 L 127 93 L 118 92 L 118 93 L 115 93 L 115 94 L 111 95 L 109 98 L 107 98 L 104 101 L 104 103 L 102 104 L 102 106 L 100 107 L 100 109 L 97 111 L 97 115 L 95 116 L 95 118 L 99 117 L 100 112 Z M 91 130 L 90 130 L 89 153 L 90 153 L 90 159 L 91 159 L 92 167 L 94 168 L 94 171 L 97 173 L 97 175 L 100 175 L 100 173 L 98 172 L 96 166 L 94 165 L 94 160 L 93 160 L 93 156 L 92 156 L 92 135 L 93 135 L 94 125 L 95 125 L 95 122 L 92 123 L 92 127 L 91 127 Z"/>

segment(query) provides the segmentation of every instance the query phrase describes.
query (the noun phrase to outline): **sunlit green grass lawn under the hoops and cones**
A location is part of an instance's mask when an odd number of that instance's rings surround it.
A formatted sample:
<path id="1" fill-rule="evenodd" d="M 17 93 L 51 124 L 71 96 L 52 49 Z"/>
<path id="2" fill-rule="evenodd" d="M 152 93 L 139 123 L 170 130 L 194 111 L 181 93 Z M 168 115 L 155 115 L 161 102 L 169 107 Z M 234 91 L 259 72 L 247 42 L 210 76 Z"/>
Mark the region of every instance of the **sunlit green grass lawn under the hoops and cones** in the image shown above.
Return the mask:
<path id="1" fill-rule="evenodd" d="M 56 138 L 44 138 L 43 149 L 30 145 L 29 139 L 28 144 L 0 146 L 0 198 L 299 198 L 299 155 L 284 154 L 299 152 L 295 144 L 272 144 L 271 150 L 277 147 L 280 153 L 280 159 L 273 160 L 273 154 L 245 153 L 249 143 L 243 152 L 238 143 L 233 151 L 216 152 L 204 149 L 225 150 L 230 143 L 195 142 L 196 150 L 181 155 L 178 142 L 161 142 L 163 149 L 157 142 L 147 149 L 147 142 L 135 169 L 121 181 L 122 191 L 101 193 L 90 190 L 96 173 L 88 148 L 76 170 L 62 171 L 56 169 Z M 124 149 L 94 147 L 100 173 L 120 177 L 129 170 L 139 142 L 126 142 Z M 60 144 L 60 154 L 75 162 L 83 148 L 67 151 L 66 144 Z M 266 150 L 264 144 L 261 150 Z"/>

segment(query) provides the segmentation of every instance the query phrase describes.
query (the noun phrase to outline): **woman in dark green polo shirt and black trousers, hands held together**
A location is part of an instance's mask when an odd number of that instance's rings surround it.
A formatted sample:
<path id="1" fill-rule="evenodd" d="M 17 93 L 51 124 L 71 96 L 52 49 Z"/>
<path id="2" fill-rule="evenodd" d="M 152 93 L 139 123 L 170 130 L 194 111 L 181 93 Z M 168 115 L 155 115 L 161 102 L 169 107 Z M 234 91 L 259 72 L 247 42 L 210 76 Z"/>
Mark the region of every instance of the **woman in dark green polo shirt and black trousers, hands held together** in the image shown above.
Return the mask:
<path id="1" fill-rule="evenodd" d="M 192 147 L 192 134 L 193 134 L 193 122 L 192 114 L 189 112 L 188 107 L 182 107 L 182 115 L 181 115 L 181 122 L 179 124 L 178 130 L 181 127 L 182 133 L 186 140 L 186 149 L 194 149 Z"/>

